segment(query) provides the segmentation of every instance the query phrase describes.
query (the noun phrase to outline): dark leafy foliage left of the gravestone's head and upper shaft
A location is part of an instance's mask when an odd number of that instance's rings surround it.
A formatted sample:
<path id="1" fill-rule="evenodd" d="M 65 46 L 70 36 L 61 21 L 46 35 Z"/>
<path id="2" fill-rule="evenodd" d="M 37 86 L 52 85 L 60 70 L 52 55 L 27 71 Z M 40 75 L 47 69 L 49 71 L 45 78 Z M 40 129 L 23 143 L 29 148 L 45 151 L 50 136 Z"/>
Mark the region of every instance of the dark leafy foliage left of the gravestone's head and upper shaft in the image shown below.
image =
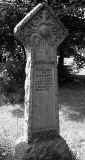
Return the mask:
<path id="1" fill-rule="evenodd" d="M 22 44 L 15 40 L 13 30 L 25 13 L 26 8 L 22 5 L 0 3 L 0 69 L 6 84 L 10 80 L 24 82 L 25 51 Z"/>

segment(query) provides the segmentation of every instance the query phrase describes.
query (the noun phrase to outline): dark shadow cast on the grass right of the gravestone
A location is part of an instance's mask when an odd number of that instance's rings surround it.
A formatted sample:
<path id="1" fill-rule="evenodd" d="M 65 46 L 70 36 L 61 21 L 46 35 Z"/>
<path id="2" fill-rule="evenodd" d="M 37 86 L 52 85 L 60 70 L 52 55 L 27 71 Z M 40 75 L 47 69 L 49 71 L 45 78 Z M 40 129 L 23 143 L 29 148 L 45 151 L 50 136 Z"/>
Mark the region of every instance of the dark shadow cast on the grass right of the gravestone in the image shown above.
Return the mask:
<path id="1" fill-rule="evenodd" d="M 70 82 L 59 88 L 61 110 L 73 121 L 85 119 L 85 84 Z"/>

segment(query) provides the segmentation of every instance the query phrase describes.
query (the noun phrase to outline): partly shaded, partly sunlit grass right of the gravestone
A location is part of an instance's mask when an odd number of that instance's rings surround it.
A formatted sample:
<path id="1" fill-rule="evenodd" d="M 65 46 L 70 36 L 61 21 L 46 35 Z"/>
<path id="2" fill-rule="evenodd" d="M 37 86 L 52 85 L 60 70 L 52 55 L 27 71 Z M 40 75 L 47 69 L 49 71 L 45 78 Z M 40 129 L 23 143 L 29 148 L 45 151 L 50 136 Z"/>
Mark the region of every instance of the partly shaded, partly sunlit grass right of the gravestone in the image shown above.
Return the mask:
<path id="1" fill-rule="evenodd" d="M 71 86 L 72 85 L 72 86 Z M 84 85 L 60 89 L 60 133 L 80 160 L 85 159 L 85 90 Z"/>

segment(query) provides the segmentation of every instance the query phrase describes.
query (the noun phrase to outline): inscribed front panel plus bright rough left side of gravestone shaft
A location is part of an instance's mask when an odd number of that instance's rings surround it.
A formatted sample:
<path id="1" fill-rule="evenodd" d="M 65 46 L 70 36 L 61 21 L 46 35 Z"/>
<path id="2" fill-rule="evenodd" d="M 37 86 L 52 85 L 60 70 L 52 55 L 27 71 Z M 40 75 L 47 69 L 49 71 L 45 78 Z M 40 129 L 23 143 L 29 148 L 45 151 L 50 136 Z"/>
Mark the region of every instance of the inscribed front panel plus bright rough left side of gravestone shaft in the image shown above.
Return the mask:
<path id="1" fill-rule="evenodd" d="M 29 55 L 29 56 L 28 56 Z M 56 62 L 32 63 L 27 55 L 25 80 L 25 137 L 42 130 L 59 131 L 59 108 L 56 107 Z"/>

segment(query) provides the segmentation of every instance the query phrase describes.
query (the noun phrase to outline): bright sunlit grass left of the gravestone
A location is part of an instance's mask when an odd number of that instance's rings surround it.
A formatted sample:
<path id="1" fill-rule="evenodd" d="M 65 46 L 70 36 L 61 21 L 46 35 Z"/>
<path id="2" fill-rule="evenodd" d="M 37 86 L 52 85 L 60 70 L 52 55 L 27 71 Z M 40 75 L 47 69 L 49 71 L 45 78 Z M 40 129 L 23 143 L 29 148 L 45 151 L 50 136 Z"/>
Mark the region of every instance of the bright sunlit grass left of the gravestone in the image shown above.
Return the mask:
<path id="1" fill-rule="evenodd" d="M 23 104 L 22 104 L 23 105 Z M 0 107 L 0 155 L 6 160 L 13 159 L 15 141 L 22 135 L 22 105 L 3 105 Z M 0 160 L 3 160 L 3 159 Z"/>

